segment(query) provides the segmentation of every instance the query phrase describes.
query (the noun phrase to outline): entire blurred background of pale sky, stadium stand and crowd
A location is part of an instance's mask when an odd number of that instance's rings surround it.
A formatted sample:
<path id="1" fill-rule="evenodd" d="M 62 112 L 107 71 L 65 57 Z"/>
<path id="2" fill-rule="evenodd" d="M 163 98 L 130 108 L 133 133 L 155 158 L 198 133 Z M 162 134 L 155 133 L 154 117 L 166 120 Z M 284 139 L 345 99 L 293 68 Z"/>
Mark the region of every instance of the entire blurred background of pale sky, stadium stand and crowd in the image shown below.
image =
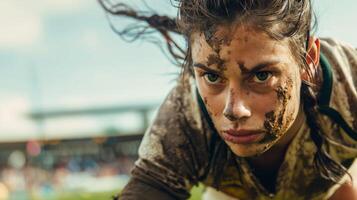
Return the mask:
<path id="1" fill-rule="evenodd" d="M 121 2 L 176 15 L 169 0 Z M 357 2 L 314 4 L 316 34 L 357 47 Z M 0 0 L 0 199 L 110 199 L 128 181 L 180 70 L 108 20 L 130 23 L 95 0 Z"/>

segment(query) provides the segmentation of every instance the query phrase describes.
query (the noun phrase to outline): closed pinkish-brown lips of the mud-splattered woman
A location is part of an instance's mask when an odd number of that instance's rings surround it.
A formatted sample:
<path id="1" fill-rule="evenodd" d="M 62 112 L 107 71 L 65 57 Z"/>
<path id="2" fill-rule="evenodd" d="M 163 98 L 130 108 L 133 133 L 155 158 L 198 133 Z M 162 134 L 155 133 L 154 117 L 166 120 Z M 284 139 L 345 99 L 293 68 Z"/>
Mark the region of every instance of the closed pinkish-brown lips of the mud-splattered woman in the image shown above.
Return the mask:
<path id="1" fill-rule="evenodd" d="M 235 144 L 252 144 L 263 139 L 264 135 L 262 130 L 229 129 L 223 131 L 222 137 Z"/>

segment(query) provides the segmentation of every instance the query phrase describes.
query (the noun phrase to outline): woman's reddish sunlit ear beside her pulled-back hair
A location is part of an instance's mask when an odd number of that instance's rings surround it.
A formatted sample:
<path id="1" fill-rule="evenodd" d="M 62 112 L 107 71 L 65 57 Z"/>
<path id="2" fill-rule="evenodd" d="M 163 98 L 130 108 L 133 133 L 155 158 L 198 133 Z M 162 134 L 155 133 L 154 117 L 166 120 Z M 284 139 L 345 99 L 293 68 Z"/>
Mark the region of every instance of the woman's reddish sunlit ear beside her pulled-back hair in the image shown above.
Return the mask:
<path id="1" fill-rule="evenodd" d="M 315 77 L 317 68 L 319 67 L 320 62 L 320 39 L 314 36 L 309 38 L 309 44 L 306 52 L 306 63 L 308 68 L 303 69 L 301 73 L 301 79 L 307 82 L 312 80 L 309 77 L 309 73 L 312 77 Z M 307 71 L 309 70 L 309 71 Z"/>

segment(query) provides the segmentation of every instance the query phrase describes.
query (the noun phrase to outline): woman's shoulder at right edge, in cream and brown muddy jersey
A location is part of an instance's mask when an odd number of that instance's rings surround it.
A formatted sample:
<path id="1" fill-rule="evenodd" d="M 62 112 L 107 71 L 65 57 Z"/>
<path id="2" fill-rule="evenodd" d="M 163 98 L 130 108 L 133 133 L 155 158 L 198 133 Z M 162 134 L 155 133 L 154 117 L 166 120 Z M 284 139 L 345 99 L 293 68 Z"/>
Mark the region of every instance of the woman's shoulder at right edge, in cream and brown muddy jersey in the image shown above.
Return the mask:
<path id="1" fill-rule="evenodd" d="M 357 51 L 351 45 L 331 38 L 322 38 L 320 41 L 321 54 L 327 60 L 325 66 L 321 62 L 320 65 L 325 68 L 325 72 L 331 74 L 328 77 L 324 72 L 323 78 L 324 84 L 330 82 L 331 88 L 323 87 L 320 92 L 329 94 L 330 100 L 325 106 L 334 109 L 342 118 L 336 120 L 336 114 L 327 113 L 329 117 L 323 117 L 323 124 L 326 125 L 323 127 L 324 132 L 344 144 L 355 145 L 356 141 L 351 140 L 345 131 L 338 129 L 339 126 L 334 126 L 334 122 L 341 125 L 340 122 L 344 121 L 352 130 L 357 130 Z M 330 123 L 331 120 L 333 123 Z"/>

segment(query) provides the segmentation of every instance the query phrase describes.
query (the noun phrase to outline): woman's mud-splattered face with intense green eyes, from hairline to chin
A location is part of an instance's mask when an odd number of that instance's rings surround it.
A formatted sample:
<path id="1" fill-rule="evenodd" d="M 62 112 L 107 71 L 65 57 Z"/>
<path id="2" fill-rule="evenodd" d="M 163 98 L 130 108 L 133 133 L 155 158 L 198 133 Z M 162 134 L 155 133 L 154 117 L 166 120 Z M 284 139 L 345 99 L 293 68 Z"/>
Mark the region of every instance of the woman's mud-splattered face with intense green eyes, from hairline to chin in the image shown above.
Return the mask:
<path id="1" fill-rule="evenodd" d="M 192 34 L 191 45 L 199 93 L 231 150 L 255 156 L 279 145 L 300 105 L 300 70 L 288 41 L 221 26 Z"/>

